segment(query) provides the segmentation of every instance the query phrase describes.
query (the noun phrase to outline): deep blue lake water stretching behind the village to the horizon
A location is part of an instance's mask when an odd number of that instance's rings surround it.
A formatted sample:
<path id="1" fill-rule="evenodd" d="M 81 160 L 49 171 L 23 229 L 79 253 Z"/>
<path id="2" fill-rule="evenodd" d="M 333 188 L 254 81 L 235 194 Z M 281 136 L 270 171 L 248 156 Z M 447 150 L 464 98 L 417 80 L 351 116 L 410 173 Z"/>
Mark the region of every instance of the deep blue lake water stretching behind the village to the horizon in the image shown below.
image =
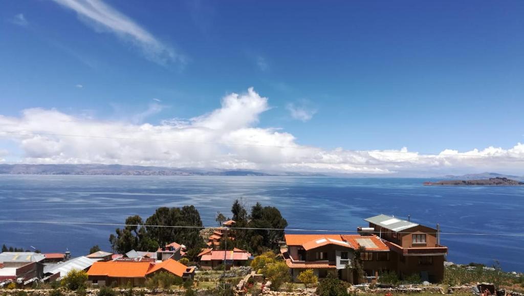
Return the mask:
<path id="1" fill-rule="evenodd" d="M 230 214 L 243 198 L 280 209 L 289 228 L 355 230 L 363 218 L 411 215 L 417 223 L 440 223 L 447 260 L 498 260 L 524 271 L 523 236 L 451 235 L 445 232 L 524 234 L 523 186 L 422 186 L 416 178 L 260 176 L 0 176 L 0 220 L 123 223 L 150 216 L 159 206 L 195 205 L 205 226 L 217 211 Z M 93 245 L 110 250 L 114 226 L 0 223 L 0 244 L 44 252 L 69 248 L 83 255 Z"/>

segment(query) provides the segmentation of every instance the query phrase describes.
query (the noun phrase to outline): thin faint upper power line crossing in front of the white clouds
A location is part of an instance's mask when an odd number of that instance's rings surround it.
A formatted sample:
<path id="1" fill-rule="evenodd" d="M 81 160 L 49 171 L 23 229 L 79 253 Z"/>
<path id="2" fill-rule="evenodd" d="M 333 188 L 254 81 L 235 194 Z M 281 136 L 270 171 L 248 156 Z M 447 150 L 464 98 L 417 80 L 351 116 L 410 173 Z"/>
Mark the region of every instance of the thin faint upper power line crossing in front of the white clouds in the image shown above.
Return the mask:
<path id="1" fill-rule="evenodd" d="M 210 141 L 141 139 L 141 138 L 117 137 L 117 136 L 59 134 L 59 133 L 6 132 L 6 131 L 0 131 L 0 133 L 15 134 L 15 135 L 47 135 L 47 136 L 63 136 L 63 137 L 71 137 L 71 138 L 127 140 L 127 141 L 140 141 L 140 142 L 165 142 L 165 143 L 186 143 L 186 144 L 246 146 L 246 147 L 269 147 L 269 148 L 273 147 L 273 148 L 281 148 L 281 149 L 319 149 L 317 147 L 304 146 L 304 145 L 297 145 L 297 146 L 262 145 L 262 144 L 225 143 L 225 142 L 210 142 Z M 384 154 L 395 153 L 395 154 L 405 154 L 405 155 L 416 154 L 416 156 L 455 156 L 455 157 L 504 158 L 504 159 L 524 160 L 524 157 L 519 157 L 519 156 L 501 156 L 501 155 L 471 155 L 471 154 L 453 154 L 453 153 L 419 153 L 419 152 L 384 151 L 384 150 L 357 150 L 357 149 L 344 149 L 344 151 L 351 151 L 351 152 L 355 152 L 355 153 L 384 153 Z"/>

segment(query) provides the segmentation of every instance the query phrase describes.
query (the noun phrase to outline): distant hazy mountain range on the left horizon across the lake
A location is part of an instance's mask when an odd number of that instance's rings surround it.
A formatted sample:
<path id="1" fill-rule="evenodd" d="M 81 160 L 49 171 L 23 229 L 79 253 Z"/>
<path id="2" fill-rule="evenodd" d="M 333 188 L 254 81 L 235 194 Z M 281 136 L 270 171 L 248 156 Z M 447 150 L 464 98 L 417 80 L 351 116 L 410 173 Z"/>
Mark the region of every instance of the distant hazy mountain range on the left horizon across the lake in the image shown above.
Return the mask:
<path id="1" fill-rule="evenodd" d="M 172 168 L 118 164 L 0 164 L 0 174 L 123 176 L 325 176 L 319 173 Z"/>

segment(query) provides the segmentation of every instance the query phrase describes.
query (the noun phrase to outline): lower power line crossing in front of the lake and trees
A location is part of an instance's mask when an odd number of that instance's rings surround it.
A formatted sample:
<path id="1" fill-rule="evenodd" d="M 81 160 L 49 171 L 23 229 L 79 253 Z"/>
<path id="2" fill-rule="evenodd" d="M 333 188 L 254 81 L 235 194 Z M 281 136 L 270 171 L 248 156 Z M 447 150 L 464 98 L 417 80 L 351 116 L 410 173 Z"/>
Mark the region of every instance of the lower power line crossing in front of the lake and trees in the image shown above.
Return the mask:
<path id="1" fill-rule="evenodd" d="M 74 222 L 74 221 L 30 221 L 30 220 L 0 220 L 0 223 L 28 223 L 28 224 L 58 224 L 58 225 L 93 225 L 93 226 L 133 226 L 133 227 L 161 227 L 161 228 L 196 228 L 196 229 L 214 229 L 217 227 L 209 226 L 180 226 L 180 225 L 143 225 L 143 224 L 121 224 L 121 223 L 92 223 L 92 222 Z M 283 231 L 308 231 L 308 232 L 342 232 L 358 233 L 356 230 L 328 230 L 328 229 L 302 229 L 302 228 L 256 228 L 256 227 L 227 227 L 229 229 L 245 230 L 283 230 Z M 381 231 L 366 231 L 372 233 L 384 233 Z M 398 234 L 411 234 L 412 232 L 397 232 Z M 426 232 L 426 234 L 436 234 L 436 232 Z M 479 232 L 440 232 L 440 235 L 475 235 L 475 236 L 509 236 L 524 237 L 524 234 L 506 233 L 506 234 L 486 234 Z"/>

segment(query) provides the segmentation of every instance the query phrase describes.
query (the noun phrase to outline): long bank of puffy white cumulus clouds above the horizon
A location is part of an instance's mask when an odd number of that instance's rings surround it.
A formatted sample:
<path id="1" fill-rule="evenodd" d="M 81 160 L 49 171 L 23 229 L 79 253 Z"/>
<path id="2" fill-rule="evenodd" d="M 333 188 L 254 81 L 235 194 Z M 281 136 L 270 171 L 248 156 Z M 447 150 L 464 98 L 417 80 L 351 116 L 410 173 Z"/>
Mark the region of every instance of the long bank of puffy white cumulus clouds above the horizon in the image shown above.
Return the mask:
<path id="1" fill-rule="evenodd" d="M 0 143 L 14 141 L 21 163 L 104 163 L 170 167 L 391 174 L 521 172 L 524 144 L 436 155 L 400 150 L 323 150 L 299 145 L 290 133 L 259 128 L 268 99 L 253 88 L 231 93 L 221 108 L 191 119 L 150 123 L 103 121 L 54 109 L 0 115 Z M 151 110 L 149 107 L 148 110 Z M 147 110 L 146 110 L 147 112 Z M 8 152 L 12 153 L 12 152 Z M 3 153 L 4 156 L 7 154 Z M 2 155 L 0 155 L 2 156 Z M 516 157 L 516 158 L 514 158 Z"/>

